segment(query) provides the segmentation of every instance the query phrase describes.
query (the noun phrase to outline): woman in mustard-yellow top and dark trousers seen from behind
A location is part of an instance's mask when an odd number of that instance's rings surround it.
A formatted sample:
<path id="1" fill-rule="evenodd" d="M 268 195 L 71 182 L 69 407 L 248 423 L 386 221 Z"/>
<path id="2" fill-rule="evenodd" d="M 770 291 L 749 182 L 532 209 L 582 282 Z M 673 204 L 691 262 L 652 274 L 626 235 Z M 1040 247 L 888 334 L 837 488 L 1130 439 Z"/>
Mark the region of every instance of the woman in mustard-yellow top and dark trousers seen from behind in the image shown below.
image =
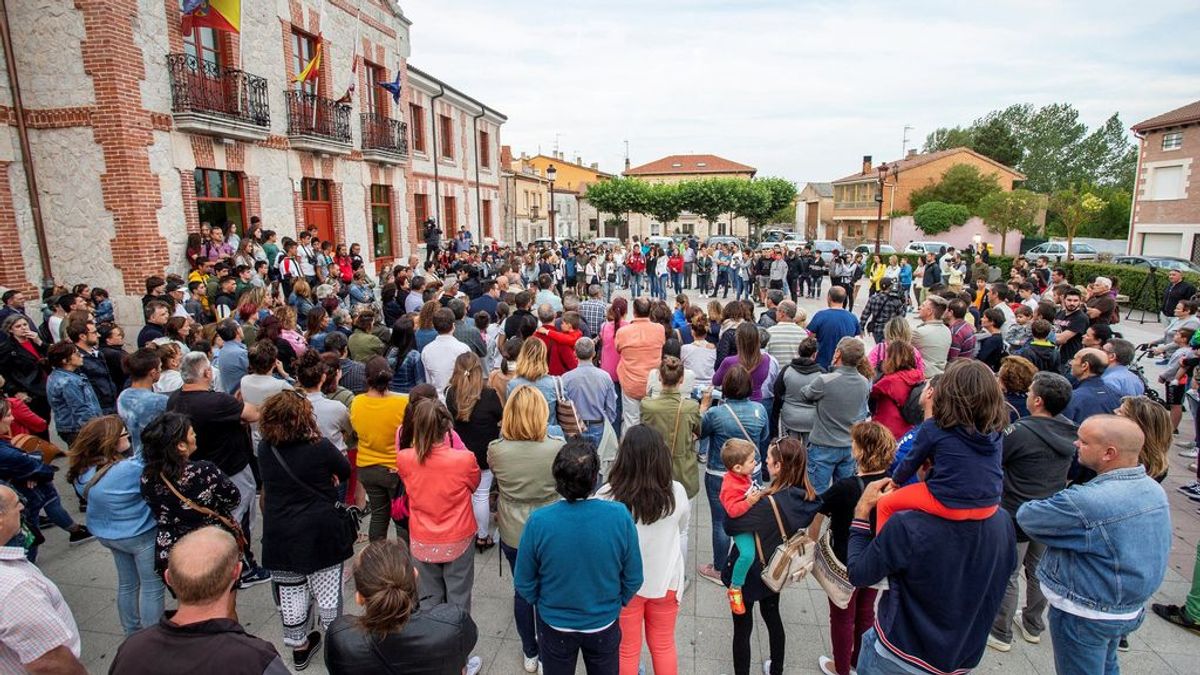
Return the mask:
<path id="1" fill-rule="evenodd" d="M 372 542 L 388 538 L 391 502 L 400 491 L 396 430 L 404 422 L 408 396 L 388 390 L 391 375 L 388 359 L 374 357 L 368 360 L 367 390 L 350 404 L 350 426 L 359 437 L 355 465 L 359 483 L 367 494 L 367 510 L 371 513 L 367 536 Z M 396 536 L 404 536 L 398 524 Z"/>

